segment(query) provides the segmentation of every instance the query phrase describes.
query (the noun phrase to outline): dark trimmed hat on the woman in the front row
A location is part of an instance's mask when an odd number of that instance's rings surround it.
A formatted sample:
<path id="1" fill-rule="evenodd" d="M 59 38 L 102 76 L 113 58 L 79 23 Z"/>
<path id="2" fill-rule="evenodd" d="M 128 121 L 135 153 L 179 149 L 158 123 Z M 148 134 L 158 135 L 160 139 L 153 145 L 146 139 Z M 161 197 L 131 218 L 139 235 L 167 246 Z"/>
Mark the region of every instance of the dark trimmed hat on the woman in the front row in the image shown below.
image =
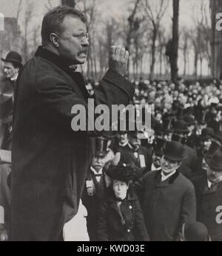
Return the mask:
<path id="1" fill-rule="evenodd" d="M 135 177 L 135 168 L 129 164 L 119 163 L 118 165 L 110 165 L 106 174 L 112 179 L 128 183 Z"/>

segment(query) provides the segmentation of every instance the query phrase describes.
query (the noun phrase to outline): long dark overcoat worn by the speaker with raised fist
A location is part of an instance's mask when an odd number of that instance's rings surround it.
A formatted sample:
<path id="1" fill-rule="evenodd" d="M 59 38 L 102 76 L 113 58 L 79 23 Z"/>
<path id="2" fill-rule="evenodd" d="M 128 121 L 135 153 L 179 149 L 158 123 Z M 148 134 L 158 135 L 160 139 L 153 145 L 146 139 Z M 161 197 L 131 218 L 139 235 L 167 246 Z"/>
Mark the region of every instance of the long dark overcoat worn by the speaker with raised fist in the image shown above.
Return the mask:
<path id="1" fill-rule="evenodd" d="M 134 89 L 108 70 L 95 105 L 129 104 Z M 17 80 L 13 125 L 12 240 L 59 240 L 78 210 L 94 140 L 73 131 L 73 105 L 88 109 L 81 73 L 39 47 Z M 88 116 L 92 121 L 92 115 Z"/>

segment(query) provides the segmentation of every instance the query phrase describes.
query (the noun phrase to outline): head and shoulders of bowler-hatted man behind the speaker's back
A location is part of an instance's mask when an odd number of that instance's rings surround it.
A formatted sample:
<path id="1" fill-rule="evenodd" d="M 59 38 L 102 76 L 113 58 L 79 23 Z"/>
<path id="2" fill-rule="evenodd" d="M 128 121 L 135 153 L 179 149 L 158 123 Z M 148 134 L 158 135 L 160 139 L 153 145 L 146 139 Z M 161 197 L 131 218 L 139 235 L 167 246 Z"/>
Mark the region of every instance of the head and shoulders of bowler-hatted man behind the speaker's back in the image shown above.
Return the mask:
<path id="1" fill-rule="evenodd" d="M 3 63 L 4 76 L 0 79 L 0 87 L 10 86 L 15 89 L 16 79 L 19 76 L 19 70 L 22 68 L 21 55 L 16 51 L 7 53 L 6 58 L 1 58 Z"/>

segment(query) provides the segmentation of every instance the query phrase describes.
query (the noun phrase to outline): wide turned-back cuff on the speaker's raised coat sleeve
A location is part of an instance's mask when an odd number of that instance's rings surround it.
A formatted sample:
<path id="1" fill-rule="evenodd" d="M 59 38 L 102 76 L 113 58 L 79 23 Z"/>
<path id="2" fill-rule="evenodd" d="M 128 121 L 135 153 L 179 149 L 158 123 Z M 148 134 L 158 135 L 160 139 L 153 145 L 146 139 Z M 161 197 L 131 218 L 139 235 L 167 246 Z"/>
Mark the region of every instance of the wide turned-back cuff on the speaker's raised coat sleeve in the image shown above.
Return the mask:
<path id="1" fill-rule="evenodd" d="M 119 74 L 115 70 L 107 70 L 104 79 L 112 82 L 112 84 L 115 84 L 116 86 L 118 86 L 118 88 L 121 88 L 125 93 L 128 94 L 129 98 L 132 98 L 132 96 L 134 95 L 135 89 L 133 85 L 126 78 L 124 78 L 124 76 L 121 76 L 121 74 Z"/>

